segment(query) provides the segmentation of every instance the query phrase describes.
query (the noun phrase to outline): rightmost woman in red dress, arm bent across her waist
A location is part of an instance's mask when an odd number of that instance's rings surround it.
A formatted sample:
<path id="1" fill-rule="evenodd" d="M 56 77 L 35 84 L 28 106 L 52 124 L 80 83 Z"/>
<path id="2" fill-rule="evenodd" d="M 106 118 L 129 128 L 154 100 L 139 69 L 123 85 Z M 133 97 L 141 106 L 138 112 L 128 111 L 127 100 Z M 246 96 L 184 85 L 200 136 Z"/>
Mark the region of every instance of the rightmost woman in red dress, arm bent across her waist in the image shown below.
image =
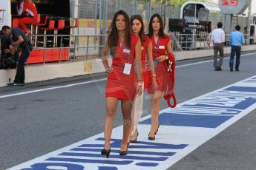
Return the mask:
<path id="1" fill-rule="evenodd" d="M 153 88 L 152 81 L 148 81 L 148 94 L 151 101 L 151 129 L 148 134 L 148 140 L 154 140 L 160 126 L 158 117 L 160 112 L 160 101 L 163 92 L 166 89 L 167 69 L 165 67 L 168 55 L 172 55 L 171 38 L 164 33 L 163 19 L 159 14 L 154 14 L 148 24 L 148 37 L 151 38 L 153 47 L 153 60 L 157 78 L 157 89 Z M 148 72 L 148 78 L 152 78 Z"/>

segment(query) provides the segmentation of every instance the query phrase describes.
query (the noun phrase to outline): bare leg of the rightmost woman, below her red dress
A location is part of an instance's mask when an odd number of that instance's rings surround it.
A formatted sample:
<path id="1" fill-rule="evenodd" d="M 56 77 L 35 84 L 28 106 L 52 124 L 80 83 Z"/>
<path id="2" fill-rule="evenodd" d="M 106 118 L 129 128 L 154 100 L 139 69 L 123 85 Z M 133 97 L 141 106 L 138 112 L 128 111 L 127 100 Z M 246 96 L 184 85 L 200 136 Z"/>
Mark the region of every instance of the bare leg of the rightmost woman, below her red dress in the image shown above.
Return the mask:
<path id="1" fill-rule="evenodd" d="M 151 100 L 151 129 L 149 132 L 150 137 L 154 137 L 154 133 L 157 131 L 159 125 L 158 116 L 160 112 L 160 101 L 163 92 L 157 90 L 154 92 L 154 96 Z"/>

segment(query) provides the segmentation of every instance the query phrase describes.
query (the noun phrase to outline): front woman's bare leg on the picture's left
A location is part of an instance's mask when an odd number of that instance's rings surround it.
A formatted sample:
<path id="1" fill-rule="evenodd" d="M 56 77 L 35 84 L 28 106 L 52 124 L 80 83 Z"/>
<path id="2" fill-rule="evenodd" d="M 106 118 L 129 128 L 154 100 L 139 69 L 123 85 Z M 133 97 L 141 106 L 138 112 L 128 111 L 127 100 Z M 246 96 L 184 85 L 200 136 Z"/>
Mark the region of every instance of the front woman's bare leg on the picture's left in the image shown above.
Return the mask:
<path id="1" fill-rule="evenodd" d="M 116 115 L 116 108 L 118 105 L 118 99 L 108 97 L 106 101 L 106 115 L 104 125 L 104 137 L 105 137 L 105 149 L 110 149 L 111 145 L 111 134 L 113 129 L 114 118 Z"/>

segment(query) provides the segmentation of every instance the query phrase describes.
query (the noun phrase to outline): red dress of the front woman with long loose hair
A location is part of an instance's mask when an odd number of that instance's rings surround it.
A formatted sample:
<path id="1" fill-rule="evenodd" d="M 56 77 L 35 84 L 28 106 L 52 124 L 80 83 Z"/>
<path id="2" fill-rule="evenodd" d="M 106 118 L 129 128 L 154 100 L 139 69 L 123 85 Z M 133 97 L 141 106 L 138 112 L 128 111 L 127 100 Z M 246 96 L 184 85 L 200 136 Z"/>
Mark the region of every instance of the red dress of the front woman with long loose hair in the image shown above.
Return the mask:
<path id="1" fill-rule="evenodd" d="M 118 42 L 118 47 L 112 55 L 113 72 L 109 73 L 106 85 L 106 98 L 113 97 L 125 101 L 134 101 L 136 95 L 137 75 L 134 70 L 135 46 L 139 41 L 137 35 L 131 35 L 130 53 L 125 53 L 126 44 Z M 130 75 L 123 73 L 125 63 L 132 64 Z"/>

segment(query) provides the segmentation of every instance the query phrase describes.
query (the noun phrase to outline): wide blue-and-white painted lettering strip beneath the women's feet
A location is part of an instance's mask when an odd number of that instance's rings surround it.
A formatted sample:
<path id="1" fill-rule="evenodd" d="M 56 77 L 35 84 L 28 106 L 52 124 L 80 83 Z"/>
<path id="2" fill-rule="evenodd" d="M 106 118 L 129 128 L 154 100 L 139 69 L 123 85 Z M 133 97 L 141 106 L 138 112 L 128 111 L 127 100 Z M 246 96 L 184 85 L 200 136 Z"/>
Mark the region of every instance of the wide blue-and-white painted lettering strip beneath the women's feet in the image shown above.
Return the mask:
<path id="1" fill-rule="evenodd" d="M 13 170 L 41 169 L 168 169 L 207 140 L 256 108 L 256 76 L 217 89 L 206 95 L 160 112 L 156 140 L 148 140 L 150 115 L 140 120 L 137 143 L 131 143 L 127 156 L 119 156 L 122 126 L 113 130 L 111 155 L 100 154 L 103 133 L 27 161 Z"/>

